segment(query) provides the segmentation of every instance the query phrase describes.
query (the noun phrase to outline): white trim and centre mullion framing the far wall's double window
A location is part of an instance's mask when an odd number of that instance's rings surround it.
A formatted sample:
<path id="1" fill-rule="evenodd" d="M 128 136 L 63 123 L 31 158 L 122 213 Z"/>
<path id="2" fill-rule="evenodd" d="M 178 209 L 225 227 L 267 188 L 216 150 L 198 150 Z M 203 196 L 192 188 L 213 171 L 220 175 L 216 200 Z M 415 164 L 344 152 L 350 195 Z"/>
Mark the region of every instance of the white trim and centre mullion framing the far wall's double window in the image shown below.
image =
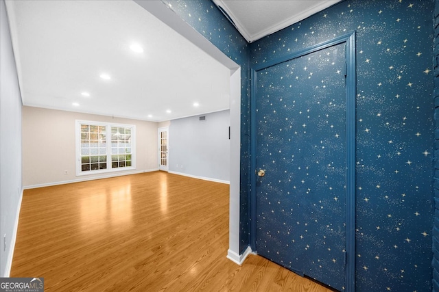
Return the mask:
<path id="1" fill-rule="evenodd" d="M 88 170 L 82 172 L 81 168 L 81 124 L 91 124 L 93 126 L 105 126 L 106 127 L 106 137 L 110 137 L 110 143 L 106 143 L 107 146 L 107 165 L 110 168 L 105 170 Z M 111 127 L 131 127 L 131 166 L 124 168 L 111 168 Z M 135 124 L 119 124 L 112 122 L 96 122 L 91 120 L 75 120 L 75 145 L 76 145 L 76 176 L 92 175 L 92 174 L 103 174 L 108 172 L 125 172 L 129 170 L 136 169 L 136 125 Z M 109 160 L 108 160 L 109 159 Z"/>

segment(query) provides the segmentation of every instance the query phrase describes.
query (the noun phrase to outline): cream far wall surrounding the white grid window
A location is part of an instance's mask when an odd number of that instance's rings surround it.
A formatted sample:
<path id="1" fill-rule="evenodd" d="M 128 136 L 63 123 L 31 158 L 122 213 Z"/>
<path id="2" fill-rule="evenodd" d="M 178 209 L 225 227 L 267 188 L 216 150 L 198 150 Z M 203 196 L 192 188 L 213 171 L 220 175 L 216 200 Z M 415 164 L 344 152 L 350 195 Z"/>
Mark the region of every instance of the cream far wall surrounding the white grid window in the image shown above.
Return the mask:
<path id="1" fill-rule="evenodd" d="M 75 120 L 136 125 L 136 170 L 76 176 Z M 156 122 L 23 107 L 24 188 L 158 170 L 157 155 Z"/>

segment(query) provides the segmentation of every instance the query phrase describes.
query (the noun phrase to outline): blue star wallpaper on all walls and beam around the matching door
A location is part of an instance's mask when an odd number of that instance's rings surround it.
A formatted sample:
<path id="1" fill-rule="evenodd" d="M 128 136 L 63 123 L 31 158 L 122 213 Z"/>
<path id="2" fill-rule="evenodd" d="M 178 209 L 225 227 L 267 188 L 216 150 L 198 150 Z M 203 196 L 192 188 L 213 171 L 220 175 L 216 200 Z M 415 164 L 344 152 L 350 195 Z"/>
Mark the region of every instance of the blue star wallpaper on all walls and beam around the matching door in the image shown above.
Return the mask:
<path id="1" fill-rule="evenodd" d="M 433 230 L 439 235 L 433 229 L 434 75 L 439 71 L 433 68 L 438 35 L 434 34 L 435 1 L 346 0 L 251 44 L 209 0 L 165 2 L 241 66 L 241 250 L 250 243 L 250 220 L 257 219 L 251 218 L 249 209 L 254 173 L 250 171 L 250 68 L 355 31 L 355 289 L 439 289 L 432 282 L 439 280 L 439 273 L 433 273 L 439 262 L 432 251 L 433 244 L 439 246 L 433 240 Z M 321 80 L 316 79 L 317 85 L 322 86 Z M 315 117 L 310 114 L 310 118 Z M 328 131 L 322 140 L 332 135 Z M 324 184 L 317 172 L 308 173 L 314 185 Z M 331 203 L 333 198 L 328 193 Z M 327 250 L 318 253 L 322 261 L 335 259 Z"/>

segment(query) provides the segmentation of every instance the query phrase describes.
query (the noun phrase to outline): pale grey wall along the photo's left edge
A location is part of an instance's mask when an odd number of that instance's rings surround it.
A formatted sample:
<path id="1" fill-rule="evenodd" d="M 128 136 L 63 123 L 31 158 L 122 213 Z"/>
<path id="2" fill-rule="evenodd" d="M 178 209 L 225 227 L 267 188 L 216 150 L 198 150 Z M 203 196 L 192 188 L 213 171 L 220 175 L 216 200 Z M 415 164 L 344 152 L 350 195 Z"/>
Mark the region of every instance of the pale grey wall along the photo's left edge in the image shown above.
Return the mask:
<path id="1" fill-rule="evenodd" d="M 8 277 L 21 204 L 21 94 L 5 3 L 0 1 L 0 276 Z M 3 245 L 5 236 L 6 246 Z"/>

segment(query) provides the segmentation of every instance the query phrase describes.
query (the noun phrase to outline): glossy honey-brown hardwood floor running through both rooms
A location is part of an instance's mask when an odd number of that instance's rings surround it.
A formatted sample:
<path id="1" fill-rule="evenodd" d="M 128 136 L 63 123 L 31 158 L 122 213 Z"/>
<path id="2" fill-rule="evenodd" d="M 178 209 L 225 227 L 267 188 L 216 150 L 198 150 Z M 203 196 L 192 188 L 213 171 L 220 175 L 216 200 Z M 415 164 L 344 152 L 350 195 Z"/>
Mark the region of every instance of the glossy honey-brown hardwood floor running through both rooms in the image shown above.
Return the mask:
<path id="1" fill-rule="evenodd" d="M 149 172 L 25 190 L 10 276 L 45 291 L 330 291 L 227 250 L 228 185 Z"/>

